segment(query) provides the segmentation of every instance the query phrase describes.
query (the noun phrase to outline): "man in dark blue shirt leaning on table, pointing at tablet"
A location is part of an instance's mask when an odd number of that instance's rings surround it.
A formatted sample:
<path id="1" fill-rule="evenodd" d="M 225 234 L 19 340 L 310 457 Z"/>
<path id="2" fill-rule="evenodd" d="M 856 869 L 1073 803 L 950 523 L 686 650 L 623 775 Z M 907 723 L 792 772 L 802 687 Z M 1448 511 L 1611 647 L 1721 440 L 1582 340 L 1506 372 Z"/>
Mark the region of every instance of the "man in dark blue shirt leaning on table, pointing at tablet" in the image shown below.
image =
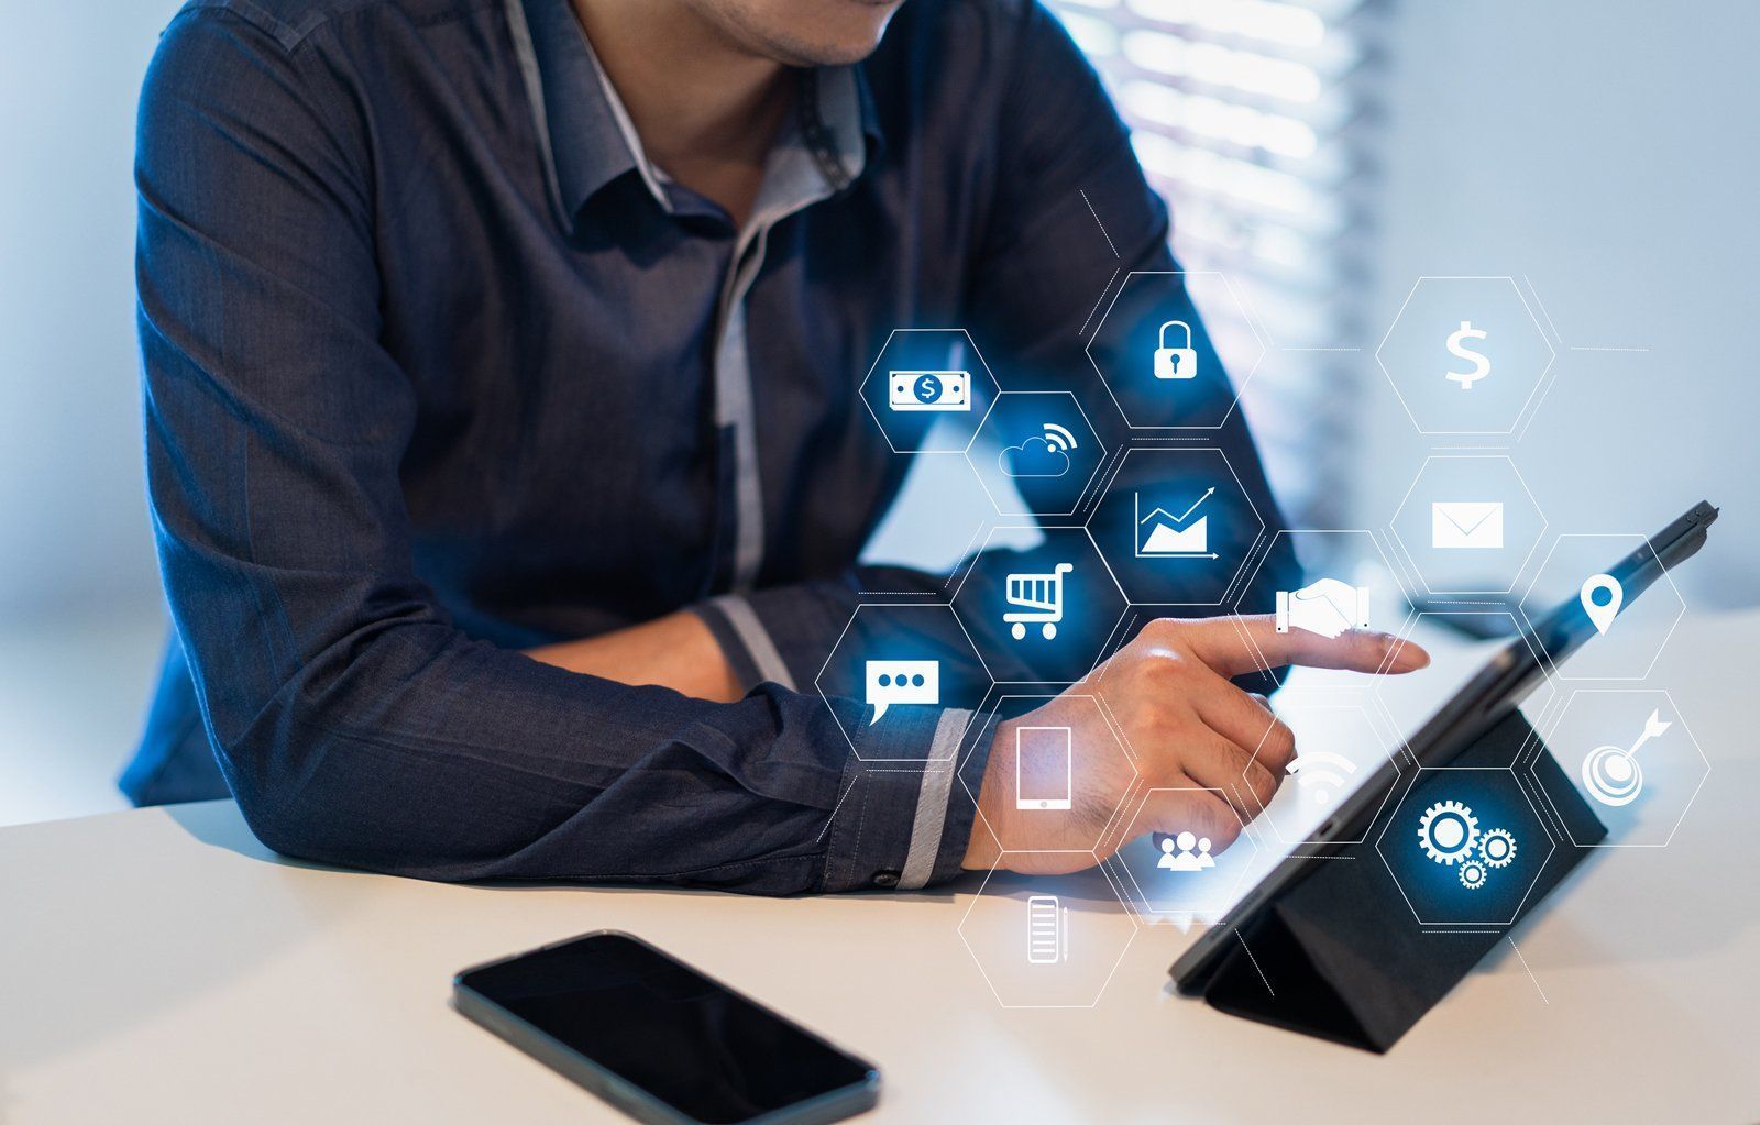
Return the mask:
<path id="1" fill-rule="evenodd" d="M 137 180 L 176 639 L 130 796 L 231 790 L 276 850 L 431 879 L 781 894 L 994 861 L 950 771 L 862 762 L 947 757 L 970 715 L 832 699 L 852 755 L 810 687 L 861 590 L 942 588 L 855 567 L 905 468 L 855 393 L 887 331 L 961 324 L 1070 386 L 1091 294 L 1172 268 L 1042 9 L 192 0 Z M 1216 445 L 1276 523 L 1237 414 Z M 1258 606 L 1287 551 L 1260 574 Z M 1389 664 L 1380 636 L 1158 621 L 1086 688 L 1151 783 L 1228 794 L 1144 824 L 1218 847 L 1292 754 L 1227 680 L 1243 636 Z M 1093 722 L 1070 710 L 1079 755 Z M 1001 826 L 1007 724 L 973 729 Z"/>

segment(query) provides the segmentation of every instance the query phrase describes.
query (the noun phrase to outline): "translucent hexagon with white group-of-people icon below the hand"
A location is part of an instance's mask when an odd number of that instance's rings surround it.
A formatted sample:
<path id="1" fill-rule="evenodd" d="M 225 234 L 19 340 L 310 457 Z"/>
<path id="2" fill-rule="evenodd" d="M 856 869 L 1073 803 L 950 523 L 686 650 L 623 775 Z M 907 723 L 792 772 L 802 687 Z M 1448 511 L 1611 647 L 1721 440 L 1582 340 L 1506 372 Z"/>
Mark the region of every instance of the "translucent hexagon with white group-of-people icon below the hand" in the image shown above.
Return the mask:
<path id="1" fill-rule="evenodd" d="M 1199 792 L 1214 796 L 1241 824 L 1234 843 L 1214 847 L 1199 822 L 1192 826 L 1155 822 L 1170 796 Z M 1156 812 L 1151 813 L 1151 808 Z M 1162 827 L 1170 829 L 1170 835 L 1155 840 L 1155 833 Z M 1119 840 L 1125 843 L 1107 859 L 1107 866 L 1116 871 L 1132 907 L 1151 919 L 1176 915 L 1213 921 L 1239 900 L 1243 886 L 1257 882 L 1265 870 L 1258 842 L 1246 829 L 1246 822 L 1239 820 L 1221 789 L 1202 785 L 1144 789 L 1132 799 Z"/>

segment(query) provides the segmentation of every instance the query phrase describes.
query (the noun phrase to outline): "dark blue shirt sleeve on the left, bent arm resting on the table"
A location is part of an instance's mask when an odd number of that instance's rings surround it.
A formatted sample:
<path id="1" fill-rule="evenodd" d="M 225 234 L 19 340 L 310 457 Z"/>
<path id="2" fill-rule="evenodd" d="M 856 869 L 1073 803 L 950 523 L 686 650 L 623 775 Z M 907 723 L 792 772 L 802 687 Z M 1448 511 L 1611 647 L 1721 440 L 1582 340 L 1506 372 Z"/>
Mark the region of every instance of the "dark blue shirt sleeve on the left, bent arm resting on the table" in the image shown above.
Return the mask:
<path id="1" fill-rule="evenodd" d="M 454 627 L 410 555 L 417 394 L 382 345 L 347 67 L 322 28 L 246 11 L 188 9 L 150 69 L 137 280 L 165 590 L 257 836 L 449 880 L 790 894 L 956 871 L 972 810 L 940 799 L 950 771 L 862 759 L 935 757 L 970 717 L 871 727 L 774 685 L 711 704 Z"/>

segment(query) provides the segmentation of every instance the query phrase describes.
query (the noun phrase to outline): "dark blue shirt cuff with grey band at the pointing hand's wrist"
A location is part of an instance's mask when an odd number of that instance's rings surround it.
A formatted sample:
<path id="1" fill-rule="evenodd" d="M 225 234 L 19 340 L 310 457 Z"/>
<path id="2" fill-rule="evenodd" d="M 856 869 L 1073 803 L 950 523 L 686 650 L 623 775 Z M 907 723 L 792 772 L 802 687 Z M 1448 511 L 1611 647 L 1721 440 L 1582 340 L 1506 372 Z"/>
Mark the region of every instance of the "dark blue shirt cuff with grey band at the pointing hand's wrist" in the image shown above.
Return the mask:
<path id="1" fill-rule="evenodd" d="M 963 870 L 994 722 L 959 708 L 896 718 L 884 738 L 864 731 L 862 757 L 843 771 L 825 891 L 919 891 Z M 933 761 L 898 761 L 905 754 Z"/>

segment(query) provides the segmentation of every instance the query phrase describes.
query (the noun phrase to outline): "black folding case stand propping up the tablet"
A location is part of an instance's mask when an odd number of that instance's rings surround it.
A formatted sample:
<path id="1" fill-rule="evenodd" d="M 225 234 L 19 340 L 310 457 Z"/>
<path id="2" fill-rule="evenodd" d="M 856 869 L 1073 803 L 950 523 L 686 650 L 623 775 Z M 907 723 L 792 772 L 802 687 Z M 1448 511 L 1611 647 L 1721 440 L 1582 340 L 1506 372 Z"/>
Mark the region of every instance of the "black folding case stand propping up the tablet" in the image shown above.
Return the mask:
<path id="1" fill-rule="evenodd" d="M 1538 739 L 1521 711 L 1514 711 L 1450 768 L 1514 766 L 1529 738 Z M 1572 840 L 1595 843 L 1607 836 L 1544 745 L 1529 769 L 1570 831 L 1554 842 L 1558 847 L 1517 910 L 1517 923 L 1588 856 Z M 1422 794 L 1426 785 L 1420 776 L 1412 794 Z M 1396 810 L 1397 805 L 1390 803 Z M 1392 813 L 1383 810 L 1385 815 Z M 1204 1000 L 1246 1019 L 1380 1053 L 1471 972 L 1510 926 L 1438 933 L 1419 924 L 1375 852 L 1383 826 L 1378 817 L 1364 843 L 1345 849 L 1357 863 L 1313 861 L 1318 870 L 1243 926 L 1243 940 L 1211 975 Z"/>

